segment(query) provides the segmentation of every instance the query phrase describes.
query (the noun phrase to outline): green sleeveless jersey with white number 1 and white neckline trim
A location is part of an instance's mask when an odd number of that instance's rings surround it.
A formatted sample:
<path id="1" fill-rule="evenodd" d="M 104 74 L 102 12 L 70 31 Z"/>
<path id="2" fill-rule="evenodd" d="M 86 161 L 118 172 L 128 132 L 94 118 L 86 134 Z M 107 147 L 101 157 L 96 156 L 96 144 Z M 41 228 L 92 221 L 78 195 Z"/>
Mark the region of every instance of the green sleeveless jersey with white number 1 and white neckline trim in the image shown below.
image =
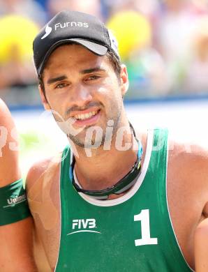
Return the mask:
<path id="1" fill-rule="evenodd" d="M 77 193 L 70 151 L 61 163 L 61 240 L 57 272 L 190 272 L 172 229 L 167 203 L 168 131 L 149 130 L 135 186 L 117 199 Z M 107 175 L 107 173 L 106 173 Z"/>

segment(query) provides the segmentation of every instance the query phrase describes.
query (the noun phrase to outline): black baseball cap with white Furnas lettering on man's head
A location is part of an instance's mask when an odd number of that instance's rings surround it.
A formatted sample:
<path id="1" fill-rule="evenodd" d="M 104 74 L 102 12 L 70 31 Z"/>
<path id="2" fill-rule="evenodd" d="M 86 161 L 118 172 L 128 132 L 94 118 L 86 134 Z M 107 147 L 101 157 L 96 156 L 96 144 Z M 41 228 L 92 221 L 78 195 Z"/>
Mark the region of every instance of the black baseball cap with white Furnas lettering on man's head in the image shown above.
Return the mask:
<path id="1" fill-rule="evenodd" d="M 117 40 L 103 22 L 93 15 L 64 10 L 57 13 L 34 39 L 34 63 L 41 75 L 50 54 L 60 45 L 77 43 L 104 56 L 112 48 L 119 59 Z"/>

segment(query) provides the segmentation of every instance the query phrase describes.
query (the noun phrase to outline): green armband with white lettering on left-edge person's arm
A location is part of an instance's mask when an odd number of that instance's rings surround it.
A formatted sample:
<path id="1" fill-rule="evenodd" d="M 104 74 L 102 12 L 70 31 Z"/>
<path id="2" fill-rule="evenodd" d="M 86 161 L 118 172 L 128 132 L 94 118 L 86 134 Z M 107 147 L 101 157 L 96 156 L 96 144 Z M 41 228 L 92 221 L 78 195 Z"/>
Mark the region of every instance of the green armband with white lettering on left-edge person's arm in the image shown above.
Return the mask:
<path id="1" fill-rule="evenodd" d="M 0 188 L 0 226 L 30 216 L 22 179 Z"/>

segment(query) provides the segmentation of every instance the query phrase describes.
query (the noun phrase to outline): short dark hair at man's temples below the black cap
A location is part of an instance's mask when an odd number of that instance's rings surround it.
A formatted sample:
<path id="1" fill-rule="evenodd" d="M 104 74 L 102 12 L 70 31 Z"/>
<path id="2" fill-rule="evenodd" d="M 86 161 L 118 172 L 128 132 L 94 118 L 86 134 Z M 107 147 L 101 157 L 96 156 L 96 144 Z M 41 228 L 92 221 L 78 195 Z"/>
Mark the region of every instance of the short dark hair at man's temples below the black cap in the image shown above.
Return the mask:
<path id="1" fill-rule="evenodd" d="M 112 66 L 114 68 L 114 72 L 117 75 L 118 80 L 120 80 L 120 73 L 121 73 L 121 61 L 120 61 L 120 59 L 114 53 L 112 48 L 107 49 L 106 56 L 107 56 L 107 59 L 109 59 L 109 61 L 112 63 Z M 40 88 L 42 89 L 43 94 L 45 96 L 45 86 L 43 84 L 43 73 L 41 75 L 38 75 L 38 82 L 39 82 Z M 45 96 L 45 99 L 47 100 L 46 96 Z"/>

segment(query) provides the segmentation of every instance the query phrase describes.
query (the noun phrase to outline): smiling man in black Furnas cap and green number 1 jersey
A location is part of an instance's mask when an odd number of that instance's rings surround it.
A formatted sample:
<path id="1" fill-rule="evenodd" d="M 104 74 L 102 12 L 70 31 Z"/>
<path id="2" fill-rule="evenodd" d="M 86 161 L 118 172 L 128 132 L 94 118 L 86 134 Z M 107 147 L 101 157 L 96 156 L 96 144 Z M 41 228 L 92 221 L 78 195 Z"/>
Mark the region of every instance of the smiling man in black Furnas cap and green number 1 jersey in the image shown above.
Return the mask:
<path id="1" fill-rule="evenodd" d="M 168 145 L 167 130 L 135 133 L 126 66 L 96 17 L 57 14 L 34 40 L 34 63 L 43 105 L 72 146 L 27 176 L 50 268 L 193 271 L 195 229 L 208 215 L 207 153 Z"/>

